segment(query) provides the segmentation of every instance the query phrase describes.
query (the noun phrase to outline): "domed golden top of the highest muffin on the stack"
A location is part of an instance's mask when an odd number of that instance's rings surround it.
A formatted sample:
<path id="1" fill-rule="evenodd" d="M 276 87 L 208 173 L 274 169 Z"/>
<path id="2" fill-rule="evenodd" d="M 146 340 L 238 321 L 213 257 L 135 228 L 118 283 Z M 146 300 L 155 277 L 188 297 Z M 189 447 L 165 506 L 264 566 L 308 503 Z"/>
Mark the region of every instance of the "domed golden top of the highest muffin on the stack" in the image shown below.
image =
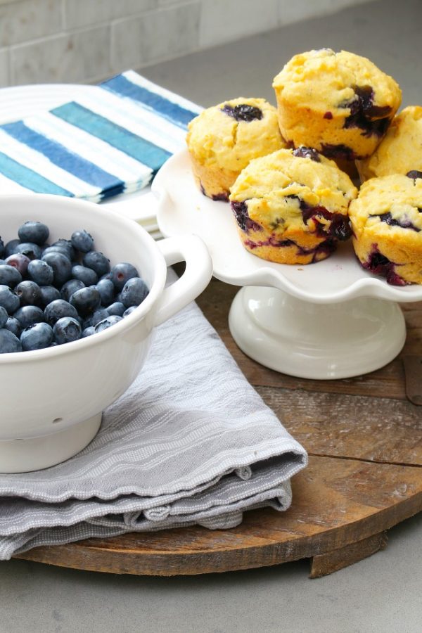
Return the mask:
<path id="1" fill-rule="evenodd" d="M 395 112 L 402 100 L 395 80 L 369 59 L 331 49 L 295 55 L 274 77 L 273 87 L 287 101 L 326 118 L 330 118 L 327 113 L 355 115 L 359 106 L 372 120 L 383 118 Z"/>

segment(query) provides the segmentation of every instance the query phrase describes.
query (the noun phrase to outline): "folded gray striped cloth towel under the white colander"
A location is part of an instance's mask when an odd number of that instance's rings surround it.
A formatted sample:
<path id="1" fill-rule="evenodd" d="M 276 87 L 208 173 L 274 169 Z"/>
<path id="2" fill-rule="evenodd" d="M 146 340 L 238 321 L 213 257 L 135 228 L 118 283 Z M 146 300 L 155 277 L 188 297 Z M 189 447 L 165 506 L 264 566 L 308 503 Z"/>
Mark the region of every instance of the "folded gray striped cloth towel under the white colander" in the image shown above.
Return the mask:
<path id="1" fill-rule="evenodd" d="M 44 471 L 0 475 L 0 558 L 137 530 L 231 528 L 248 509 L 286 510 L 306 464 L 191 304 L 157 328 L 89 446 Z"/>

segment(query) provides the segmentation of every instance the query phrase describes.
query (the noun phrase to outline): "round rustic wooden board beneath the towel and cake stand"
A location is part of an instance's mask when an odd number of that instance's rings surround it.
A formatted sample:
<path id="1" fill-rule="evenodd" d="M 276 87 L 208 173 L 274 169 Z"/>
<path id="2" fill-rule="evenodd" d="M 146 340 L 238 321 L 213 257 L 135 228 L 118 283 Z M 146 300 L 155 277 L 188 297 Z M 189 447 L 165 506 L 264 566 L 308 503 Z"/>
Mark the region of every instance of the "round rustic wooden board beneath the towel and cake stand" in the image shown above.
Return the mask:
<path id="1" fill-rule="evenodd" d="M 357 378 L 310 381 L 271 371 L 238 350 L 227 325 L 237 290 L 212 279 L 198 304 L 248 381 L 309 452 L 308 468 L 293 478 L 290 509 L 247 512 L 231 530 L 132 533 L 38 547 L 17 558 L 161 576 L 310 558 L 316 577 L 383 549 L 385 530 L 421 511 L 422 409 L 407 399 L 403 360 L 422 368 L 422 302 L 403 306 L 407 343 L 388 366 Z M 421 397 L 422 380 L 418 385 Z"/>

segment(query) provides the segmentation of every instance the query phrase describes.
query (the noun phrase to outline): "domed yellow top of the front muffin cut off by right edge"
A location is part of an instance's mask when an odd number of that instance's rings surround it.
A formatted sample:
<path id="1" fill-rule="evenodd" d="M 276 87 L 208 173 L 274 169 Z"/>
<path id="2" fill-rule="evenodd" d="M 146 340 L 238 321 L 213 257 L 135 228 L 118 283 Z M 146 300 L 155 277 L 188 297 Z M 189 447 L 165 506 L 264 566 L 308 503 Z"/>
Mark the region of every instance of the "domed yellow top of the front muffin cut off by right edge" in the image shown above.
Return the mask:
<path id="1" fill-rule="evenodd" d="M 422 247 L 422 179 L 392 174 L 371 178 L 350 204 L 354 234 L 404 236 Z"/>

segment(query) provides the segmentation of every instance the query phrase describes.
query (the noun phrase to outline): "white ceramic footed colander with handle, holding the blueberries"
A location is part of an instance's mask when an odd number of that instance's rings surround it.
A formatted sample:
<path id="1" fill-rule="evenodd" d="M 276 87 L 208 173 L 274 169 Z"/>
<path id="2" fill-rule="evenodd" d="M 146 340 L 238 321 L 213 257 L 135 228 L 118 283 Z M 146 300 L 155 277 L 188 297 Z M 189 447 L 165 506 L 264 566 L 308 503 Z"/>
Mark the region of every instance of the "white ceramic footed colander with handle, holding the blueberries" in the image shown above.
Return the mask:
<path id="1" fill-rule="evenodd" d="M 49 226 L 49 242 L 85 229 L 110 264 L 130 262 L 150 292 L 107 330 L 46 350 L 0 354 L 0 473 L 53 466 L 96 435 L 101 412 L 127 390 L 145 362 L 153 328 L 207 286 L 212 263 L 196 236 L 153 241 L 141 226 L 93 203 L 60 196 L 0 196 L 0 236 L 27 220 Z M 165 288 L 167 266 L 186 261 Z M 165 359 L 163 359 L 165 362 Z"/>

